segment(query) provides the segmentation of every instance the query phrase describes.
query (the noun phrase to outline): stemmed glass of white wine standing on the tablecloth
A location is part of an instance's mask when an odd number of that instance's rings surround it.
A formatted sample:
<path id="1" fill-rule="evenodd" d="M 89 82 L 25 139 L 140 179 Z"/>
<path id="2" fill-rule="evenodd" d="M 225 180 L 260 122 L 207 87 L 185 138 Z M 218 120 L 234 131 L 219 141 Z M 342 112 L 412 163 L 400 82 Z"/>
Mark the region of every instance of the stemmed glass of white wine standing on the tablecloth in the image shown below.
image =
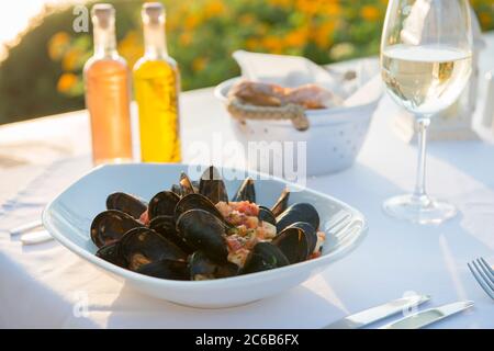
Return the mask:
<path id="1" fill-rule="evenodd" d="M 383 204 L 396 218 L 439 224 L 457 214 L 426 193 L 426 136 L 431 117 L 450 106 L 472 71 L 472 30 L 467 0 L 390 0 L 381 39 L 386 91 L 416 117 L 418 165 L 412 194 Z"/>

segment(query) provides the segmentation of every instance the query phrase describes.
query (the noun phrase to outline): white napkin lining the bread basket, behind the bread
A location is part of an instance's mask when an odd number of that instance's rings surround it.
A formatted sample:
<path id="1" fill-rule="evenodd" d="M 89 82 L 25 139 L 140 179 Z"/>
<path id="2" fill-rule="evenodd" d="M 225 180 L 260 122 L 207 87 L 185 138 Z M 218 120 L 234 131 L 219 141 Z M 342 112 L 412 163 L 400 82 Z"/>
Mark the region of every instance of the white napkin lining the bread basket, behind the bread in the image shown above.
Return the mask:
<path id="1" fill-rule="evenodd" d="M 325 69 L 310 59 L 300 56 L 272 55 L 237 50 L 233 54 L 242 69 L 242 77 L 247 80 L 279 84 L 288 88 L 296 88 L 303 84 L 317 84 L 335 94 L 343 101 L 344 106 L 358 103 L 357 98 L 367 100 L 371 92 L 369 88 L 375 88 L 367 83 L 375 77 L 379 67 L 374 60 L 358 60 L 345 65 L 345 69 Z M 345 79 L 346 73 L 355 73 L 353 79 Z M 364 89 L 360 91 L 360 89 Z M 378 90 L 380 91 L 380 89 Z M 345 101 L 350 99 L 350 101 Z"/>

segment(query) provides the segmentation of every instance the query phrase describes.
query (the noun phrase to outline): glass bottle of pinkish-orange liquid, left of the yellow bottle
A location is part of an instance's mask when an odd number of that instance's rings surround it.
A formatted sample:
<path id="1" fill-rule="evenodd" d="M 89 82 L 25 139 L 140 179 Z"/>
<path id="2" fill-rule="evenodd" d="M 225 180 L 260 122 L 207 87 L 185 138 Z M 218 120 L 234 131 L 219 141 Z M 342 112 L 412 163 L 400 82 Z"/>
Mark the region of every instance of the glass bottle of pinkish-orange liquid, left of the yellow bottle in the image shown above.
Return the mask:
<path id="1" fill-rule="evenodd" d="M 115 10 L 111 4 L 96 4 L 91 16 L 94 55 L 83 75 L 93 162 L 132 161 L 131 73 L 116 52 Z"/>

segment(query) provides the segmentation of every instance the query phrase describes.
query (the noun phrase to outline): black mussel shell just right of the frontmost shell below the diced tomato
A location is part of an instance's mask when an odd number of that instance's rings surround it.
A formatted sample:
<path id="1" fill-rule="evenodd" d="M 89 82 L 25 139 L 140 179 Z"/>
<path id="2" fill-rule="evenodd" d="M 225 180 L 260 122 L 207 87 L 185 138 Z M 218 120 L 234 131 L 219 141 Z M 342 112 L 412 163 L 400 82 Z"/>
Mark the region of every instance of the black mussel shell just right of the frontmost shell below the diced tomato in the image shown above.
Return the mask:
<path id="1" fill-rule="evenodd" d="M 285 228 L 272 241 L 287 257 L 290 264 L 308 258 L 308 240 L 304 230 L 295 227 Z"/>

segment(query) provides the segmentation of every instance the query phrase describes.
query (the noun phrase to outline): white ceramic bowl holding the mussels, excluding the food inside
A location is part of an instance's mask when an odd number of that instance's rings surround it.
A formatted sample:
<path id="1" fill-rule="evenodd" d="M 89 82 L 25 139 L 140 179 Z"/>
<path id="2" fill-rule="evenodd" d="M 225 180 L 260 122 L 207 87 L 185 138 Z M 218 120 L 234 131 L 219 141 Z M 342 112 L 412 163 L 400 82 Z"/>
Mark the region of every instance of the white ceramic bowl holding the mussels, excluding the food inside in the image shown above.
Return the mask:
<path id="1" fill-rule="evenodd" d="M 329 263 L 350 252 L 366 233 L 363 216 L 350 206 L 311 190 L 294 191 L 290 203 L 311 202 L 321 215 L 327 233 L 323 256 L 306 262 L 212 281 L 172 281 L 156 279 L 122 269 L 94 256 L 97 247 L 89 237 L 92 218 L 105 210 L 106 195 L 125 191 L 150 199 L 176 183 L 184 165 L 115 165 L 96 168 L 53 200 L 43 212 L 43 225 L 56 240 L 102 271 L 155 297 L 195 307 L 227 307 L 280 294 Z M 249 172 L 255 179 L 258 173 Z M 266 176 L 263 176 L 266 177 Z M 240 180 L 226 181 L 233 194 Z M 279 179 L 256 181 L 258 203 L 272 205 L 287 182 Z M 291 185 L 292 190 L 300 190 Z"/>

